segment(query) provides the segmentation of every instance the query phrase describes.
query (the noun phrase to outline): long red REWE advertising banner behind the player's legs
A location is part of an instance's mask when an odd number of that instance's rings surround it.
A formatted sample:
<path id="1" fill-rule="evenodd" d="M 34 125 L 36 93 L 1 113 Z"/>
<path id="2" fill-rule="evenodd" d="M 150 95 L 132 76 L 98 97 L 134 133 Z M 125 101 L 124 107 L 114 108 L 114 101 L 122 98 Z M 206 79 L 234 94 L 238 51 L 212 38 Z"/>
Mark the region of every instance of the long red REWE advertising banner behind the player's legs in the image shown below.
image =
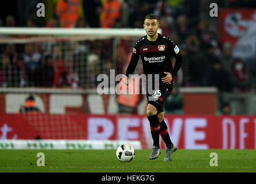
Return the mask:
<path id="1" fill-rule="evenodd" d="M 256 149 L 255 116 L 165 115 L 171 140 L 182 149 Z M 145 116 L 0 114 L 0 139 L 140 140 L 151 148 Z M 161 141 L 161 147 L 164 143 Z"/>

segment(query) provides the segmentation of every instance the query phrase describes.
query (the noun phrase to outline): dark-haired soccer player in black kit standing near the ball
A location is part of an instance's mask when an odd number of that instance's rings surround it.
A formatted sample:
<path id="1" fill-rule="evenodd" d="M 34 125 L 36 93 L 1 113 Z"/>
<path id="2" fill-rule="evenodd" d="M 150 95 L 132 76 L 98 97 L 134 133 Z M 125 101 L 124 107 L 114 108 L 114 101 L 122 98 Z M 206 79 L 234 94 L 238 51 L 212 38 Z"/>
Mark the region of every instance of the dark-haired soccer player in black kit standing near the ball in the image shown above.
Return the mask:
<path id="1" fill-rule="evenodd" d="M 182 55 L 174 41 L 157 33 L 159 28 L 159 17 L 154 14 L 148 14 L 144 19 L 146 36 L 141 37 L 135 43 L 123 82 L 129 85 L 129 75 L 133 75 L 138 59 L 141 56 L 147 89 L 151 86 L 154 90 L 153 93 L 149 93 L 149 90 L 146 90 L 148 99 L 146 116 L 149 120 L 153 139 L 153 148 L 149 159 L 156 159 L 161 154 L 159 144 L 159 135 L 161 135 L 167 147 L 164 161 L 171 161 L 172 154 L 177 148 L 172 143 L 167 125 L 164 122 L 163 103 L 171 94 L 174 76 L 182 64 Z M 172 67 L 171 55 L 176 58 L 174 67 Z M 152 81 L 149 80 L 148 74 L 153 75 Z M 153 82 L 155 81 L 155 74 L 159 75 L 159 80 L 157 81 L 159 85 L 155 85 L 155 82 Z M 157 86 L 159 86 L 158 89 Z"/>

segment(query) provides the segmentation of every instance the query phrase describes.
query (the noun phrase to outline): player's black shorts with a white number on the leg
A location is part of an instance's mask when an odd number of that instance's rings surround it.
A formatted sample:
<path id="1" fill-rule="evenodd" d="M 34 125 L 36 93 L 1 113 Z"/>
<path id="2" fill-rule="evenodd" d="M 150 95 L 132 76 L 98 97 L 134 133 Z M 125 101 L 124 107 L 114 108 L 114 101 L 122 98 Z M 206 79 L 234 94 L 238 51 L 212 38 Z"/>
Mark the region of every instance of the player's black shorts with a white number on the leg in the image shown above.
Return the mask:
<path id="1" fill-rule="evenodd" d="M 146 99 L 148 99 L 148 104 L 156 107 L 157 114 L 164 112 L 164 102 L 172 93 L 174 85 L 160 85 L 158 90 L 155 90 L 152 94 L 146 94 Z"/>

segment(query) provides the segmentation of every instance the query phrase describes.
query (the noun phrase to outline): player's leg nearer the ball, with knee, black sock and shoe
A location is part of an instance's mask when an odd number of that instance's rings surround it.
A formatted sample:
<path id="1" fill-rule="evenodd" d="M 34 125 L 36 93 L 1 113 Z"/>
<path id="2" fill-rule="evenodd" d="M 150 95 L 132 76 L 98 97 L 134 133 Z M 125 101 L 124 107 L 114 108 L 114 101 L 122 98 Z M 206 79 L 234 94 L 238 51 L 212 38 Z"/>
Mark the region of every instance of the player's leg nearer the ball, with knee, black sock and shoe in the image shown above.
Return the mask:
<path id="1" fill-rule="evenodd" d="M 149 156 L 149 159 L 156 159 L 161 154 L 159 136 L 160 136 L 160 124 L 157 118 L 157 109 L 152 104 L 148 104 L 146 108 L 146 115 L 148 116 L 150 131 L 153 139 L 153 148 Z"/>

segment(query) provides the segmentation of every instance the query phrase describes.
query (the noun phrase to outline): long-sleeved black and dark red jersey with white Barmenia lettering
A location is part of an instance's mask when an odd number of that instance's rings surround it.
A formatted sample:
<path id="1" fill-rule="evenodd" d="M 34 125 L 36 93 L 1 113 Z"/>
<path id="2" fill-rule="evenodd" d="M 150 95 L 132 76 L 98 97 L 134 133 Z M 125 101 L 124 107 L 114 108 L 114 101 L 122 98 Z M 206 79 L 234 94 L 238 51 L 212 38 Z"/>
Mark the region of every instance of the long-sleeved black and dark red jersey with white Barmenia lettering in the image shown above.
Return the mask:
<path id="1" fill-rule="evenodd" d="M 178 46 L 169 37 L 159 33 L 156 41 L 149 41 L 147 36 L 144 36 L 134 44 L 126 76 L 129 77 L 129 74 L 134 73 L 140 56 L 144 74 L 146 76 L 159 74 L 160 85 L 163 84 L 161 78 L 166 76 L 164 72 L 170 72 L 174 78 L 182 64 L 182 56 Z M 171 63 L 171 56 L 176 58 L 174 68 Z"/>

